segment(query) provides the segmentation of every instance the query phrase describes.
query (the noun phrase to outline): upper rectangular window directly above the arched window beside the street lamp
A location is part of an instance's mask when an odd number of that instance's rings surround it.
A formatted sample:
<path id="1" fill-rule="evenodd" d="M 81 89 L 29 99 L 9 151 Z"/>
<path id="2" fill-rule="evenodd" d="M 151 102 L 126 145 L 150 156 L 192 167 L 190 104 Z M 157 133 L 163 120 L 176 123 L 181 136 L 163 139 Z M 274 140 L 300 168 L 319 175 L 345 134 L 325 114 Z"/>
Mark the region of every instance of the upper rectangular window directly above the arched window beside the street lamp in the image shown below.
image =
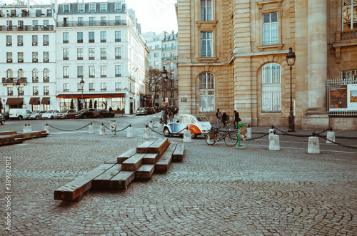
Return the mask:
<path id="1" fill-rule="evenodd" d="M 263 45 L 278 43 L 278 14 L 263 14 Z"/>

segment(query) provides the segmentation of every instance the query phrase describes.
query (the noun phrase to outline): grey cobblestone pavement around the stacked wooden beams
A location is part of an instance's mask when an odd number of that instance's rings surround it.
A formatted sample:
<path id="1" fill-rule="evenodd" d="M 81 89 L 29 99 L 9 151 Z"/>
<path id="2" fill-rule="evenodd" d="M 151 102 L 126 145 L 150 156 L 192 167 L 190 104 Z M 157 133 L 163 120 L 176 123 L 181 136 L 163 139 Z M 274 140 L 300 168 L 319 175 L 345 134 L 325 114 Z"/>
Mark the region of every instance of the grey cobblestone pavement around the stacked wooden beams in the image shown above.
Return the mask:
<path id="1" fill-rule="evenodd" d="M 143 142 L 71 133 L 0 147 L 0 235 L 357 235 L 355 150 L 236 149 L 197 139 L 185 144 L 183 162 L 151 180 L 89 191 L 81 202 L 54 200 L 56 188 Z"/>

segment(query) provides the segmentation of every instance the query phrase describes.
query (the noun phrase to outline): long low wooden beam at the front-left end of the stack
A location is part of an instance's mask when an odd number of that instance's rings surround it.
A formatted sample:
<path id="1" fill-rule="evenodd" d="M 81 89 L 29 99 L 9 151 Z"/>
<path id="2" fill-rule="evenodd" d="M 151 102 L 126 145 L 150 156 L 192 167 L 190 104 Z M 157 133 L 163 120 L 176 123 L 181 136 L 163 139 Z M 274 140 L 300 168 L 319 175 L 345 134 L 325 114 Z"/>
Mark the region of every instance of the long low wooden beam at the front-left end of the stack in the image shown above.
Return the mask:
<path id="1" fill-rule="evenodd" d="M 112 164 L 99 165 L 84 176 L 54 191 L 54 200 L 79 201 L 84 193 L 91 188 L 92 180 L 111 168 Z"/>

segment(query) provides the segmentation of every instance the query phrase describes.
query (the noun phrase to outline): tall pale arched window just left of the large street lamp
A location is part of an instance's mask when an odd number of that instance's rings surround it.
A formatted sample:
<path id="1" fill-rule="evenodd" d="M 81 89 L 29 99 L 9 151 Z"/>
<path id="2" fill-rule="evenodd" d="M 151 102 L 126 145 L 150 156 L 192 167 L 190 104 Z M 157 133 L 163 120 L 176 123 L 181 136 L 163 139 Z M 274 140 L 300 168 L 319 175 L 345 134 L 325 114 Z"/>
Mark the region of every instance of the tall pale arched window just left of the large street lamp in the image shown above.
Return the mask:
<path id="1" fill-rule="evenodd" d="M 261 69 L 261 112 L 281 112 L 281 68 L 268 63 Z"/>

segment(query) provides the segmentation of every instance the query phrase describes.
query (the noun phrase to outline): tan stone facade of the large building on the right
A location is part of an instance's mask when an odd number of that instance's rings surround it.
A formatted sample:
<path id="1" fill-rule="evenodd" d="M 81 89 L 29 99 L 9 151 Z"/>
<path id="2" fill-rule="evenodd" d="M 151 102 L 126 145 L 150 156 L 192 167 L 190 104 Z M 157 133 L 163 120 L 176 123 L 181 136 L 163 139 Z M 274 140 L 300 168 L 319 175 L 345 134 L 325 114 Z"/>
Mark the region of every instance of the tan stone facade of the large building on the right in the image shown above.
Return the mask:
<path id="1" fill-rule="evenodd" d="M 201 4 L 208 6 L 205 14 L 212 9 L 207 19 L 202 19 Z M 326 109 L 326 80 L 357 70 L 357 19 L 352 29 L 343 30 L 342 4 L 342 0 L 178 0 L 180 111 L 203 113 L 214 122 L 217 108 L 230 116 L 237 110 L 243 123 L 288 126 L 292 84 L 296 128 L 356 129 L 357 112 L 333 118 Z M 208 56 L 202 56 L 204 32 L 212 33 L 213 53 Z M 286 61 L 290 47 L 296 54 L 292 80 Z M 280 84 L 275 84 L 278 95 L 269 108 L 268 96 L 275 92 L 262 81 L 270 78 L 266 72 L 271 65 L 280 68 L 276 77 Z M 214 109 L 209 112 L 200 110 L 201 73 L 214 76 Z"/>

